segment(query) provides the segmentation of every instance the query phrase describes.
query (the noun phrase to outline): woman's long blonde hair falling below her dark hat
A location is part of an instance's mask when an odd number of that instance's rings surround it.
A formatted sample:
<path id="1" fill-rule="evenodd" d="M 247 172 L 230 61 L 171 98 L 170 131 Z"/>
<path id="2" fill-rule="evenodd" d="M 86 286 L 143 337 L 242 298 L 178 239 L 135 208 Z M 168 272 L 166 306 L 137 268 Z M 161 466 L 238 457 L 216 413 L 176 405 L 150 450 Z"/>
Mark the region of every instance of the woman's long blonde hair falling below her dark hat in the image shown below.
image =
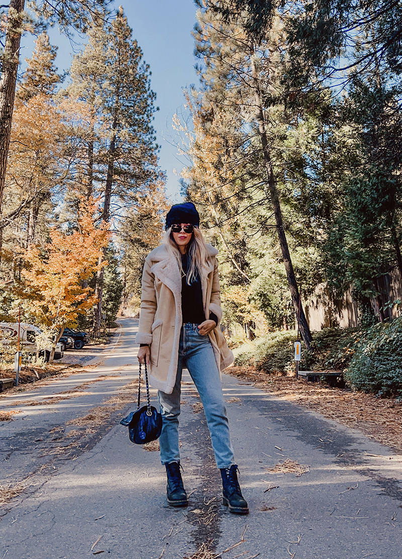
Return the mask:
<path id="1" fill-rule="evenodd" d="M 187 245 L 188 267 L 186 274 L 182 266 L 181 252 L 178 249 L 176 241 L 173 239 L 172 226 L 170 226 L 164 234 L 163 244 L 167 248 L 168 253 L 176 258 L 182 277 L 186 275 L 186 283 L 191 285 L 191 283 L 196 280 L 197 272 L 201 275 L 201 269 L 206 266 L 208 258 L 206 242 L 200 229 L 198 229 L 198 227 L 193 229 L 190 243 Z"/>

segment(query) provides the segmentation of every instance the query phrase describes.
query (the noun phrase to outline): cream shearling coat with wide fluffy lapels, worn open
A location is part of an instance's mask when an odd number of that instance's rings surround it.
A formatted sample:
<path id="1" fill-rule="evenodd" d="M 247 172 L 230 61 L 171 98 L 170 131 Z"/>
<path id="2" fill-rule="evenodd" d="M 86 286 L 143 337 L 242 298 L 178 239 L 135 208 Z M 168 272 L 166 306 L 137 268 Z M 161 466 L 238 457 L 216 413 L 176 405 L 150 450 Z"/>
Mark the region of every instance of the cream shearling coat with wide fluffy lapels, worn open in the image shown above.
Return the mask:
<path id="1" fill-rule="evenodd" d="M 216 248 L 207 245 L 206 267 L 200 271 L 205 316 L 210 311 L 222 318 Z M 139 330 L 136 343 L 150 344 L 150 385 L 172 394 L 177 375 L 179 338 L 182 327 L 182 279 L 178 263 L 164 245 L 155 248 L 145 259 Z M 209 334 L 216 364 L 223 371 L 233 363 L 225 337 L 219 328 Z"/>

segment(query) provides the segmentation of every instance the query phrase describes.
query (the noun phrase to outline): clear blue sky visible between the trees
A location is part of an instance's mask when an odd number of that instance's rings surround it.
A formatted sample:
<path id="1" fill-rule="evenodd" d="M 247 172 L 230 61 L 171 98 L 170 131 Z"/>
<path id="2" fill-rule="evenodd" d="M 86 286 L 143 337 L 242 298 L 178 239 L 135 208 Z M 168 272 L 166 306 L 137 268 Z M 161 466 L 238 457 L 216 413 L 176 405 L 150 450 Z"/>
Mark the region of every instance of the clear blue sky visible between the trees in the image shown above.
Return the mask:
<path id="1" fill-rule="evenodd" d="M 152 89 L 157 93 L 154 127 L 160 145 L 159 164 L 167 173 L 167 193 L 172 203 L 181 201 L 179 195 L 178 172 L 186 161 L 177 154 L 171 143 L 175 140 L 172 129 L 174 113 L 184 111 L 183 88 L 197 83 L 194 70 L 193 37 L 191 31 L 195 24 L 196 6 L 192 0 L 120 0 L 133 29 L 133 36 L 144 53 L 144 60 L 152 71 Z M 59 47 L 56 65 L 59 70 L 67 69 L 74 51 L 80 45 L 71 45 L 68 39 L 60 36 L 56 29 L 50 30 L 50 42 Z M 77 43 L 80 39 L 75 37 Z M 32 39 L 23 37 L 21 61 L 29 58 L 32 52 Z M 23 69 L 22 64 L 22 69 Z"/>

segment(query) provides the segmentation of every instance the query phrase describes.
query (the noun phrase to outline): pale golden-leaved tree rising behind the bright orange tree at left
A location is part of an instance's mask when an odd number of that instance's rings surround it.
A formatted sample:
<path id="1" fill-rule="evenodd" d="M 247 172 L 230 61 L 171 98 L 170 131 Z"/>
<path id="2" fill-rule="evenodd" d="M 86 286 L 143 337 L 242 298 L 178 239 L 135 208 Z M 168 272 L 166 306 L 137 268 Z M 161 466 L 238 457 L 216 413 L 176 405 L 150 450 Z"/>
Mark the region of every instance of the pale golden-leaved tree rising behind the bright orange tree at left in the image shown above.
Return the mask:
<path id="1" fill-rule="evenodd" d="M 83 103 L 55 103 L 44 93 L 16 101 L 3 210 L 6 222 L 26 221 L 19 243 L 23 247 L 46 238 L 51 198 L 61 196 L 72 182 L 73 162 L 79 174 L 77 158 L 88 120 Z"/>

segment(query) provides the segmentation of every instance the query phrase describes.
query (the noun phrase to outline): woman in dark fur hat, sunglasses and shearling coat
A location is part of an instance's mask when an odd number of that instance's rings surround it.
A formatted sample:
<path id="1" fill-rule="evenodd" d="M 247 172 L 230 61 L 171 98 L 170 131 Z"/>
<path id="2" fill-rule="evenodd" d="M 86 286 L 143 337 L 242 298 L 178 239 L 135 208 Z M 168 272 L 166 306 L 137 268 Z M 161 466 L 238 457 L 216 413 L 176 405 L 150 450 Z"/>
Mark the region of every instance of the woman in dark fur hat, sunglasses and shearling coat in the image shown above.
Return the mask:
<path id="1" fill-rule="evenodd" d="M 138 361 L 149 363 L 149 382 L 158 389 L 163 420 L 160 461 L 167 472 L 168 504 L 188 504 L 178 437 L 182 369 L 187 367 L 204 405 L 223 481 L 223 503 L 231 513 L 247 514 L 220 382 L 220 371 L 233 362 L 233 354 L 218 328 L 222 311 L 217 250 L 205 243 L 199 225 L 192 202 L 172 206 L 163 244 L 145 259 Z"/>

